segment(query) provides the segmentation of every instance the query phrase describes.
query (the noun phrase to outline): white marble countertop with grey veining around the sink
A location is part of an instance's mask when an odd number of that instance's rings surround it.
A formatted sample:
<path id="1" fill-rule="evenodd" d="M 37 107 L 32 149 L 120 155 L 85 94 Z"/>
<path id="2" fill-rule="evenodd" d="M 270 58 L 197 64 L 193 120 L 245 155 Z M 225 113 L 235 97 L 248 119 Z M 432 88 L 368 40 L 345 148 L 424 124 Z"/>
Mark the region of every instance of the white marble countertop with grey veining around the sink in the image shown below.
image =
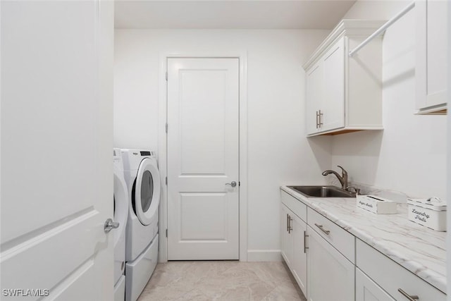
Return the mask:
<path id="1" fill-rule="evenodd" d="M 307 198 L 286 186 L 281 189 L 446 292 L 446 232 L 409 221 L 407 204 L 398 204 L 397 214 L 373 214 L 357 207 L 354 198 Z"/>

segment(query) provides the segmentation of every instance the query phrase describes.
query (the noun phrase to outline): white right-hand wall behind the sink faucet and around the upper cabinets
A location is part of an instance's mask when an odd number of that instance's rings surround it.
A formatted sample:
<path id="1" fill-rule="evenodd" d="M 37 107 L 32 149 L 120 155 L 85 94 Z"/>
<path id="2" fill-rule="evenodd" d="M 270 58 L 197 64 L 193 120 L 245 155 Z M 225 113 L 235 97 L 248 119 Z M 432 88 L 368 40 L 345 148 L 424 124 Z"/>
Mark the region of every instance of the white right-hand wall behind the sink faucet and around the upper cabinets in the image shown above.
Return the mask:
<path id="1" fill-rule="evenodd" d="M 389 19 L 409 1 L 357 1 L 345 18 Z M 415 9 L 415 8 L 414 8 Z M 446 116 L 416 116 L 414 9 L 383 37 L 383 132 L 337 135 L 332 165 L 351 180 L 412 197 L 445 197 Z"/>

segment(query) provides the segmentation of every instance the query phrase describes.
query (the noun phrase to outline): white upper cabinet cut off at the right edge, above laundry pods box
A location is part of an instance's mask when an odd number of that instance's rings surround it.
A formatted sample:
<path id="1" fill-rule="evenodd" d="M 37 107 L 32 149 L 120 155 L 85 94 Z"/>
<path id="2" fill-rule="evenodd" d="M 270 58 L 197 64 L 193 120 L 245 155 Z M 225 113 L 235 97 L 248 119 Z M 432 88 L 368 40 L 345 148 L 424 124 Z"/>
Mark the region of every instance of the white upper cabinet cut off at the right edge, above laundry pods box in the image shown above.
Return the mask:
<path id="1" fill-rule="evenodd" d="M 446 113 L 448 1 L 421 0 L 416 10 L 416 109 Z"/>

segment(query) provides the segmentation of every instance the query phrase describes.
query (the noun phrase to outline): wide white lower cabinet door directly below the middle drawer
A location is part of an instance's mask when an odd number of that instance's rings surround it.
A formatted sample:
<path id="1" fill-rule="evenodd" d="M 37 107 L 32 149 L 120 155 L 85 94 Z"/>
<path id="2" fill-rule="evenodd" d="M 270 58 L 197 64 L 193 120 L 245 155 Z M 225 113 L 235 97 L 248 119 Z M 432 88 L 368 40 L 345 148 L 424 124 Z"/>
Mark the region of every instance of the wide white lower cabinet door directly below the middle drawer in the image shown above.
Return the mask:
<path id="1" fill-rule="evenodd" d="M 307 300 L 354 300 L 354 264 L 307 227 Z"/>

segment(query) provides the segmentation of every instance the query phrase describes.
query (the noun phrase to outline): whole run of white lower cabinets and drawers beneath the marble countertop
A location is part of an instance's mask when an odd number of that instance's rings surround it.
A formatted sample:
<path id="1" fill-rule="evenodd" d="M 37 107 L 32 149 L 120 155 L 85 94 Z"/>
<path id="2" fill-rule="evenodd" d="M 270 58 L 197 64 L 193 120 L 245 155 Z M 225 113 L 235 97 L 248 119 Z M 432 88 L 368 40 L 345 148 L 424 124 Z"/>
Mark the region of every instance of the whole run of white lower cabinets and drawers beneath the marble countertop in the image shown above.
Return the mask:
<path id="1" fill-rule="evenodd" d="M 445 293 L 295 197 L 284 191 L 280 197 L 281 253 L 307 300 L 447 300 Z"/>

